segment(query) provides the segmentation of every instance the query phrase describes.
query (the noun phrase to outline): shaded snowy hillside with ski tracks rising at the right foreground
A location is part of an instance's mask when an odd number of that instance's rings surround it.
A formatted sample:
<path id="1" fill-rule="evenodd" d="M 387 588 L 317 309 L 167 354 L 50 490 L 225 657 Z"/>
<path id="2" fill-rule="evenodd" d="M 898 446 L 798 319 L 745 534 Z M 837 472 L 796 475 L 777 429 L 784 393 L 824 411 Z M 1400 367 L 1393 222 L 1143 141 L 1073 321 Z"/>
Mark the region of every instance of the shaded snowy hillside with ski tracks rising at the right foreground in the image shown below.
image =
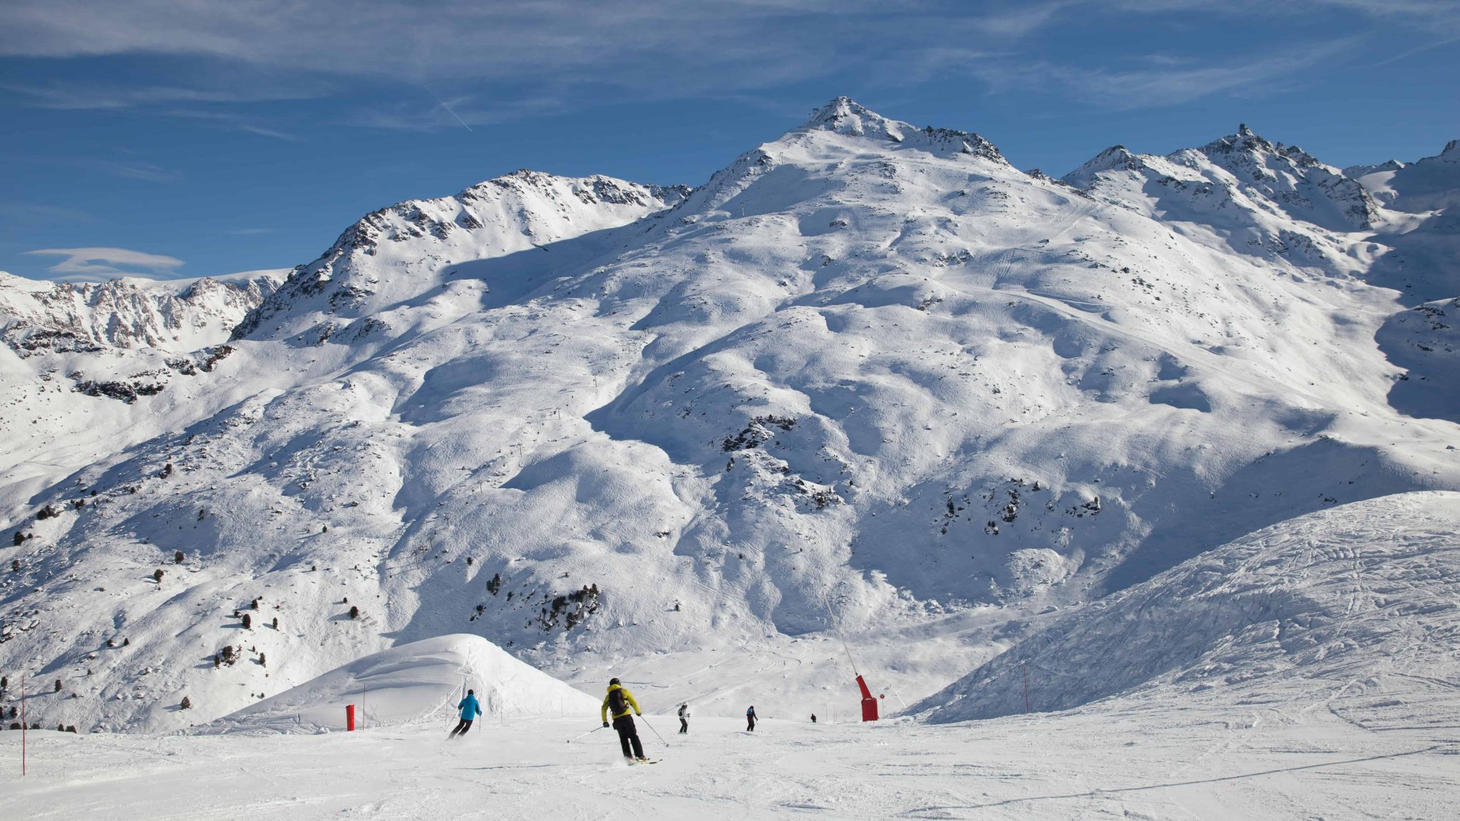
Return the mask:
<path id="1" fill-rule="evenodd" d="M 1419 722 L 1460 706 L 1457 589 L 1460 494 L 1346 504 L 1088 605 L 912 710 L 936 723 L 1023 713 L 1026 676 L 1040 711 L 1140 695 Z"/>

